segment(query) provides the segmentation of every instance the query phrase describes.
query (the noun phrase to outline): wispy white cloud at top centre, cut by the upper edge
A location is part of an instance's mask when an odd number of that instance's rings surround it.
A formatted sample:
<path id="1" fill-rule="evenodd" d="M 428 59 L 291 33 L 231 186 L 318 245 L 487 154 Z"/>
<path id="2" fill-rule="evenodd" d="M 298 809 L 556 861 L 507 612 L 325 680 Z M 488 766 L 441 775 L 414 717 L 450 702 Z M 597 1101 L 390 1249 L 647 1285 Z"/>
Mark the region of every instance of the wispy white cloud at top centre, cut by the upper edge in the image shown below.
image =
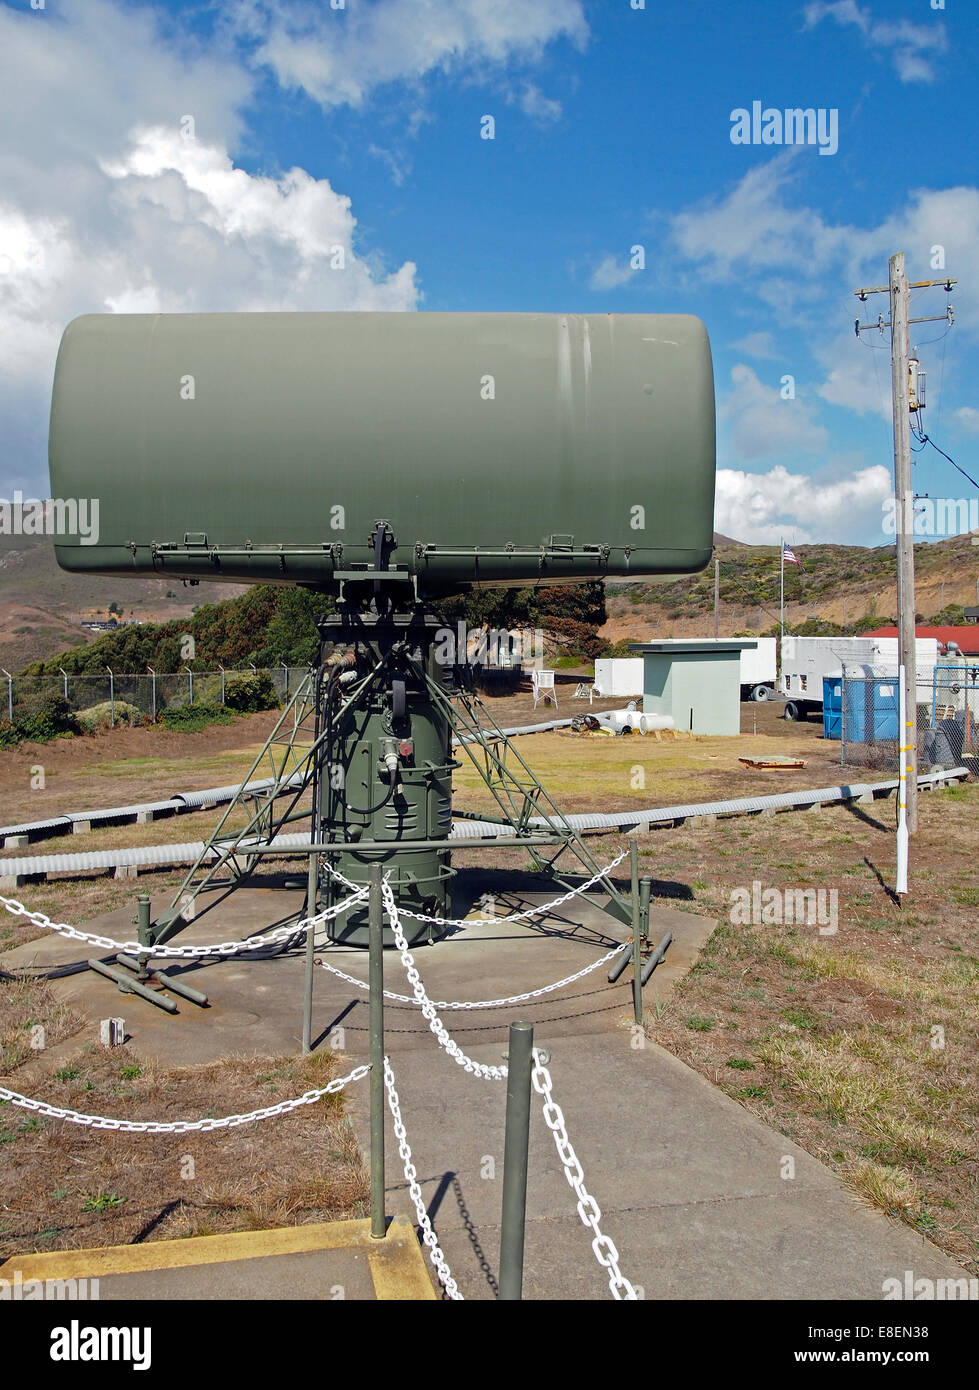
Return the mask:
<path id="1" fill-rule="evenodd" d="M 384 0 L 343 10 L 238 0 L 229 24 L 254 43 L 254 64 L 324 107 L 360 106 L 375 88 L 434 72 L 485 75 L 487 65 L 540 58 L 553 39 L 581 46 L 588 35 L 580 0 Z"/>

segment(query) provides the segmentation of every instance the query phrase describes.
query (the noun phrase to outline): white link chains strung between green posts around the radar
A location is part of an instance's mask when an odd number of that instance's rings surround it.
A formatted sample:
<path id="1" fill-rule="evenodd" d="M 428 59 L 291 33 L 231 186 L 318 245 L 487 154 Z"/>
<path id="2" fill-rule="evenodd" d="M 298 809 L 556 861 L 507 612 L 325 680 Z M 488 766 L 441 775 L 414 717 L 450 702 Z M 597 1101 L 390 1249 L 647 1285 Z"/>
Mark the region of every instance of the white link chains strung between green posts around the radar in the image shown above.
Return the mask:
<path id="1" fill-rule="evenodd" d="M 556 898 L 552 903 L 541 903 L 540 906 L 530 909 L 527 912 L 513 913 L 510 919 L 506 920 L 519 920 L 521 917 L 544 915 L 552 910 L 555 906 L 566 903 L 570 898 L 574 898 L 581 892 L 587 891 L 587 888 L 591 887 L 599 877 L 608 874 L 617 863 L 622 862 L 623 858 L 624 853 L 619 855 L 604 870 L 599 870 L 599 873 L 595 874 L 587 884 L 583 884 L 580 888 L 576 888 L 572 892 L 565 894 L 560 898 Z M 139 942 L 114 941 L 113 938 L 100 935 L 97 933 L 82 931 L 78 927 L 74 927 L 68 923 L 51 922 L 51 919 L 46 913 L 31 910 L 24 903 L 18 902 L 15 898 L 6 898 L 0 895 L 0 906 L 3 906 L 7 912 L 10 912 L 14 916 L 26 917 L 28 920 L 33 922 L 39 927 L 43 927 L 44 930 L 58 933 L 67 940 L 81 941 L 88 945 L 99 947 L 102 949 L 142 951 L 143 954 L 149 954 L 154 958 L 188 958 L 188 956 L 207 958 L 207 956 L 232 956 L 232 955 L 248 958 L 249 952 L 254 952 L 256 949 L 260 949 L 263 947 L 280 945 L 291 940 L 295 941 L 298 937 L 305 935 L 309 931 L 314 931 L 318 924 L 328 922 L 331 917 L 338 916 L 341 912 L 346 912 L 356 903 L 362 902 L 369 892 L 367 888 L 357 887 L 356 884 L 348 883 L 346 880 L 343 880 L 343 883 L 352 890 L 350 897 L 342 899 L 339 903 L 334 903 L 331 908 L 327 908 L 323 912 L 314 913 L 313 916 L 309 917 L 303 917 L 291 926 L 278 927 L 274 931 L 257 934 L 243 941 L 224 941 L 207 945 L 195 944 L 195 945 L 177 947 L 172 944 L 164 944 L 160 947 L 147 948 L 145 945 L 140 945 Z M 509 998 L 502 998 L 502 999 L 437 1002 L 430 998 L 428 991 L 426 990 L 424 983 L 414 965 L 414 958 L 412 956 L 412 952 L 407 947 L 407 940 L 405 937 L 405 931 L 400 924 L 400 912 L 398 909 L 395 895 L 391 890 L 391 884 L 388 883 L 387 877 L 382 880 L 381 892 L 382 892 L 384 915 L 389 922 L 402 966 L 405 969 L 405 973 L 407 976 L 409 984 L 412 986 L 413 991 L 410 998 L 407 995 L 391 994 L 391 991 L 387 990 L 384 991 L 385 995 L 389 995 L 391 998 L 395 998 L 400 1002 L 417 1005 L 417 1008 L 421 1011 L 423 1017 L 427 1020 L 428 1027 L 432 1036 L 435 1037 L 435 1041 L 438 1042 L 439 1048 L 442 1048 L 448 1056 L 451 1056 L 455 1062 L 458 1062 L 467 1074 L 484 1080 L 491 1080 L 491 1081 L 506 1080 L 508 1068 L 491 1066 L 487 1063 L 476 1062 L 473 1058 L 467 1056 L 451 1037 L 448 1029 L 445 1027 L 442 1019 L 439 1017 L 438 1012 L 439 1009 L 499 1008 L 509 1004 L 517 1004 L 527 999 L 533 999 L 552 990 L 558 990 L 565 984 L 583 979 L 590 972 L 597 970 L 602 965 L 608 963 L 612 959 L 612 956 L 615 956 L 622 949 L 620 947 L 616 947 L 615 951 L 605 954 L 604 956 L 591 962 L 584 969 L 577 970 L 574 974 L 570 974 L 563 980 L 558 980 L 553 984 L 544 986 L 538 990 L 527 991 L 524 994 L 512 995 Z M 412 913 L 412 916 L 414 916 L 414 913 Z M 494 919 L 494 922 L 496 920 L 498 919 Z M 325 965 L 325 962 L 321 963 Z M 356 977 L 349 976 L 345 972 L 337 970 L 332 966 L 327 966 L 327 969 L 332 970 L 341 979 L 348 980 L 350 984 L 356 984 L 360 988 L 364 988 L 363 981 L 356 980 Z M 636 1286 L 631 1284 L 630 1280 L 623 1276 L 619 1268 L 619 1252 L 616 1250 L 615 1243 L 601 1229 L 599 1223 L 602 1212 L 601 1208 L 598 1207 L 598 1202 L 588 1193 L 588 1188 L 585 1187 L 581 1162 L 567 1136 L 567 1126 L 565 1122 L 563 1111 L 553 1098 L 553 1081 L 545 1065 L 545 1058 L 537 1048 L 534 1049 L 533 1056 L 534 1056 L 533 1087 L 541 1097 L 544 1123 L 547 1125 L 548 1130 L 553 1137 L 555 1148 L 558 1152 L 558 1158 L 562 1163 L 562 1168 L 565 1170 L 565 1176 L 574 1197 L 577 1198 L 576 1209 L 578 1218 L 583 1226 L 585 1226 L 585 1229 L 588 1229 L 592 1233 L 592 1241 L 591 1241 L 592 1254 L 608 1279 L 610 1295 L 616 1300 L 630 1300 L 630 1301 L 637 1300 L 640 1294 L 637 1293 Z M 0 1086 L 0 1101 L 19 1106 L 36 1115 L 42 1115 L 46 1119 L 64 1120 L 67 1123 L 79 1125 L 89 1129 L 114 1130 L 129 1134 L 185 1134 L 191 1131 L 235 1129 L 242 1125 L 260 1123 L 266 1119 L 274 1119 L 282 1115 L 288 1115 L 299 1109 L 300 1106 L 314 1105 L 325 1095 L 334 1095 L 345 1090 L 352 1083 L 366 1077 L 370 1073 L 370 1070 L 371 1070 L 370 1065 L 360 1065 L 353 1068 L 353 1070 L 346 1073 L 346 1076 L 335 1077 L 327 1086 L 306 1091 L 303 1093 L 303 1095 L 286 1101 L 280 1101 L 277 1105 L 267 1105 L 260 1109 L 248 1111 L 243 1113 L 227 1115 L 221 1118 L 209 1116 L 197 1120 L 127 1120 L 122 1118 L 113 1118 L 104 1115 L 86 1115 L 85 1112 L 75 1111 L 68 1106 L 51 1105 L 46 1101 L 39 1101 L 22 1095 L 19 1091 L 14 1091 L 6 1086 Z M 394 1069 L 391 1066 L 391 1059 L 387 1055 L 384 1056 L 384 1086 L 388 1099 L 388 1109 L 391 1111 L 391 1118 L 394 1123 L 395 1137 L 398 1140 L 398 1151 L 405 1170 L 405 1180 L 407 1183 L 409 1195 L 414 1205 L 417 1225 L 421 1233 L 423 1244 L 428 1250 L 428 1257 L 438 1276 L 438 1282 L 442 1286 L 445 1297 L 453 1301 L 460 1301 L 463 1298 L 463 1294 L 459 1290 L 458 1282 L 452 1276 L 452 1270 L 439 1245 L 438 1236 L 435 1234 L 431 1219 L 426 1209 L 424 1194 L 421 1193 L 421 1187 L 417 1179 L 417 1170 L 413 1162 L 412 1148 L 407 1141 L 407 1131 L 402 1115 L 400 1098 L 395 1087 Z"/>

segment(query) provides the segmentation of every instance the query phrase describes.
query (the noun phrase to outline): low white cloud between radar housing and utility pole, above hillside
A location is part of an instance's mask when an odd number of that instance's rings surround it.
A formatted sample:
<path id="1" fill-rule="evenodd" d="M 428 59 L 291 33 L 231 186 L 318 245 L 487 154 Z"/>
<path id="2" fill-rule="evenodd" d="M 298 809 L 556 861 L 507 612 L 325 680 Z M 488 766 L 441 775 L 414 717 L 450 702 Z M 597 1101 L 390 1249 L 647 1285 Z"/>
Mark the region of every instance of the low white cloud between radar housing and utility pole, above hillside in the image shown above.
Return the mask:
<path id="1" fill-rule="evenodd" d="M 777 545 L 782 537 L 800 545 L 862 545 L 880 531 L 882 505 L 891 488 L 883 464 L 822 481 L 782 464 L 768 473 L 719 468 L 713 525 L 752 545 Z"/>

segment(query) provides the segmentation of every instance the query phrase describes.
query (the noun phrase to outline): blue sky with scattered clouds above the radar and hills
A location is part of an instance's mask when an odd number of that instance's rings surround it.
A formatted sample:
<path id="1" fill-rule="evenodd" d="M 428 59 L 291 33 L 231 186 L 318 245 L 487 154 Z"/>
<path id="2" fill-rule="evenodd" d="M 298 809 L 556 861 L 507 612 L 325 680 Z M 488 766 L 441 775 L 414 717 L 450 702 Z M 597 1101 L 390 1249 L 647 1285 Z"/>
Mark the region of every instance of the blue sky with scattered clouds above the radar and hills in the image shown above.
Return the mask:
<path id="1" fill-rule="evenodd" d="M 979 475 L 973 3 L 332 4 L 0 0 L 0 495 L 47 491 L 78 313 L 686 311 L 715 354 L 718 528 L 879 545 L 887 339 L 852 322 L 887 300 L 852 289 L 897 250 L 960 278 L 955 327 L 912 341 L 926 428 Z M 836 113 L 839 149 L 733 143 L 755 100 Z M 975 492 L 933 450 L 915 486 Z"/>

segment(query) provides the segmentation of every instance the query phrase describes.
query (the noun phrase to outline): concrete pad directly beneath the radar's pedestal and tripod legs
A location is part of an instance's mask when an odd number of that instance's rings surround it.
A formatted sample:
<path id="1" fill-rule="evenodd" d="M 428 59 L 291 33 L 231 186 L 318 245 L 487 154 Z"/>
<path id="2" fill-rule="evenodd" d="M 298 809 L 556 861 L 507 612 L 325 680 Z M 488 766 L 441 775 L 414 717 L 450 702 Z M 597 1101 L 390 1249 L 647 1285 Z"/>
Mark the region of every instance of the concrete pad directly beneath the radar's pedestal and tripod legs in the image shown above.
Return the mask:
<path id="1" fill-rule="evenodd" d="M 524 888 L 524 881 L 537 885 L 537 891 Z M 515 883 L 520 884 L 517 890 L 510 888 Z M 541 880 L 531 874 L 466 870 L 459 874 L 453 885 L 455 910 L 462 916 L 485 894 L 492 894 L 498 912 L 506 915 L 531 902 L 548 902 L 563 892 L 553 884 L 542 890 L 540 883 Z M 243 887 L 228 894 L 221 890 L 209 894 L 203 905 L 199 903 L 197 916 L 174 938 L 174 944 L 179 947 L 214 944 L 267 933 L 273 927 L 296 920 L 302 902 L 300 891 Z M 164 899 L 154 899 L 152 913 L 156 916 L 167 905 Z M 132 915 L 132 906 L 120 908 L 86 923 L 85 929 L 115 941 L 131 941 L 135 937 Z M 478 915 L 484 915 L 481 909 Z M 673 908 L 658 908 L 654 902 L 649 923 L 652 944 L 655 945 L 665 931 L 672 931 L 674 940 L 666 960 L 656 967 L 644 990 L 647 1008 L 656 998 L 665 997 L 679 974 L 690 967 L 712 930 L 713 922 L 706 917 Z M 423 970 L 432 998 L 492 999 L 535 990 L 573 974 L 613 949 L 624 935 L 624 927 L 608 917 L 597 902 L 578 899 L 566 903 L 558 915 L 547 917 L 542 923 L 537 919 L 531 924 L 524 922 L 456 929 L 442 941 L 416 948 L 416 962 Z M 325 933 L 317 935 L 317 948 L 320 947 L 324 960 L 366 981 L 366 951 L 331 945 L 325 940 Z M 86 945 L 50 933 L 6 952 L 4 959 L 11 966 L 28 963 L 43 966 L 85 960 L 93 954 L 96 952 Z M 99 951 L 97 955 L 111 959 L 111 952 Z M 171 1016 L 128 994 L 124 1009 L 128 1037 L 147 1056 L 175 1065 L 210 1062 L 231 1052 L 246 1055 L 296 1052 L 302 1045 L 303 955 L 303 945 L 299 944 L 289 951 L 277 947 L 242 956 L 167 963 L 168 974 L 207 994 L 209 1006 L 202 1009 L 177 999 L 178 1013 Z M 616 986 L 606 984 L 606 970 L 608 966 L 604 966 L 577 984 L 528 1001 L 521 1005 L 523 1012 L 533 1022 L 567 1015 L 569 1019 L 577 1020 L 574 1027 L 580 1031 L 602 1027 L 604 1017 L 617 1012 L 626 1020 L 623 1026 L 627 1026 L 633 1016 L 631 969 L 624 972 Z M 388 988 L 410 994 L 400 962 L 394 952 L 385 954 L 385 972 Z M 122 1012 L 120 991 L 113 981 L 90 970 L 53 980 L 51 986 L 60 998 L 74 1002 L 89 1015 L 93 1020 L 93 1037 L 97 1037 L 97 1019 Z M 506 1044 L 508 1022 L 515 1016 L 510 1008 L 453 1011 L 452 1024 L 460 1038 L 494 1037 L 499 1040 L 502 1049 Z M 324 969 L 317 969 L 314 1041 L 324 1042 L 335 1026 L 345 1029 L 345 1037 L 366 1036 L 367 992 L 337 980 Z M 427 1049 L 431 1044 L 428 1029 L 412 1004 L 391 1004 L 388 1027 L 399 1030 L 392 1033 L 392 1037 L 398 1037 L 400 1047 Z M 352 1045 L 349 1037 L 348 1045 Z"/>

